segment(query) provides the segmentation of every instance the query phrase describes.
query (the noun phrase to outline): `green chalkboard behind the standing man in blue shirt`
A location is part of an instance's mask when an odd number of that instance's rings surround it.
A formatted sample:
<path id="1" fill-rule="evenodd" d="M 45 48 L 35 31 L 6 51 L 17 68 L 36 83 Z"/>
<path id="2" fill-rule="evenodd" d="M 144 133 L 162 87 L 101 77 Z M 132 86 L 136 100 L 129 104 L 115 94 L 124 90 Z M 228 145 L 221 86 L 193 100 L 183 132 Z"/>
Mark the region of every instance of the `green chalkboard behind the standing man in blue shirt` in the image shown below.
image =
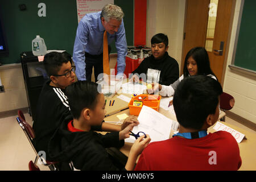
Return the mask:
<path id="1" fill-rule="evenodd" d="M 39 17 L 39 3 L 46 4 L 46 17 Z M 114 0 L 125 17 L 127 45 L 133 45 L 133 0 Z M 19 5 L 26 5 L 20 11 Z M 78 25 L 76 0 L 10 0 L 1 1 L 0 13 L 6 31 L 9 56 L 0 57 L 2 64 L 20 63 L 20 53 L 32 51 L 32 40 L 40 35 L 47 49 L 66 50 L 72 55 Z M 112 53 L 116 52 L 112 43 Z"/>

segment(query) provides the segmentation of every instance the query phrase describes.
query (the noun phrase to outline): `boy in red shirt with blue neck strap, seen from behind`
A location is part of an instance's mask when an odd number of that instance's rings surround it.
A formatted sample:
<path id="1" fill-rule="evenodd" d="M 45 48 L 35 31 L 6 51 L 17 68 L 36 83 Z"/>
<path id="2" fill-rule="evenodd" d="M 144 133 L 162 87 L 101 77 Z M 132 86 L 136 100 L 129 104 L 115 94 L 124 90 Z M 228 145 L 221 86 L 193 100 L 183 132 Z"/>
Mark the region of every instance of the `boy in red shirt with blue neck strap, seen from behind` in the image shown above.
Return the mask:
<path id="1" fill-rule="evenodd" d="M 142 152 L 135 170 L 237 170 L 238 144 L 226 131 L 207 134 L 219 115 L 219 82 L 207 76 L 185 78 L 174 94 L 179 133 L 152 142 Z"/>

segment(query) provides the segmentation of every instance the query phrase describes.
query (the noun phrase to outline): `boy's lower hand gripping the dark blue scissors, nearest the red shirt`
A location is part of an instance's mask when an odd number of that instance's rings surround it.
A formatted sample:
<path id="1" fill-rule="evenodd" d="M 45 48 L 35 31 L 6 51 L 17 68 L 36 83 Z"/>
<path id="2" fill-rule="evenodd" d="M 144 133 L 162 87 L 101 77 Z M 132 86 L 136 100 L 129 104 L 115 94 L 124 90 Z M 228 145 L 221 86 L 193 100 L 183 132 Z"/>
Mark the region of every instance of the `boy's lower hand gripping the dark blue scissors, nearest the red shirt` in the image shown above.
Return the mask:
<path id="1" fill-rule="evenodd" d="M 133 146 L 130 150 L 130 155 L 138 156 L 141 154 L 141 152 L 144 150 L 144 148 L 147 147 L 148 143 L 150 143 L 151 138 L 149 135 L 146 134 L 146 138 L 144 138 L 145 135 L 142 135 L 137 140 L 135 140 Z"/>

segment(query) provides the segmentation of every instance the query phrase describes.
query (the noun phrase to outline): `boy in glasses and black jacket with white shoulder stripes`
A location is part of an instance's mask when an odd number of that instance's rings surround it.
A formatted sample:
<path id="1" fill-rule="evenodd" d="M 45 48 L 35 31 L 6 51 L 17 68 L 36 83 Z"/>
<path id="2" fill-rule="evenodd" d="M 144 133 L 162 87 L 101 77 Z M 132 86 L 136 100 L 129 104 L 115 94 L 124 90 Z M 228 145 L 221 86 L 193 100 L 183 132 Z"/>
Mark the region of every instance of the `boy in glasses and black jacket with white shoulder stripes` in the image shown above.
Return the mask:
<path id="1" fill-rule="evenodd" d="M 75 82 L 75 67 L 71 56 L 63 52 L 50 52 L 43 61 L 49 80 L 44 84 L 36 106 L 36 119 L 33 123 L 36 151 L 46 152 L 46 160 L 52 160 L 48 155 L 48 142 L 53 133 L 66 117 L 71 115 L 65 88 Z M 137 118 L 126 118 L 122 127 L 129 123 L 138 123 Z M 97 131 L 120 131 L 121 127 L 102 122 L 94 126 Z"/>

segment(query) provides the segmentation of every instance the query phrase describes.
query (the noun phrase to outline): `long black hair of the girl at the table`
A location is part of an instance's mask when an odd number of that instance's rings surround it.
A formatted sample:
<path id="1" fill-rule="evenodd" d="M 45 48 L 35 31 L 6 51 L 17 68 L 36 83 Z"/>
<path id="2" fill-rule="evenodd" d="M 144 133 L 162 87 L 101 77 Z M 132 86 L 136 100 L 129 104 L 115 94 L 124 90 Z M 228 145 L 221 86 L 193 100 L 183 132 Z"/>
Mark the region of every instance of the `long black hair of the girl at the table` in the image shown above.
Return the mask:
<path id="1" fill-rule="evenodd" d="M 197 64 L 197 75 L 215 76 L 214 73 L 212 72 L 212 69 L 210 69 L 210 61 L 209 61 L 207 50 L 205 50 L 204 47 L 194 47 L 190 51 L 188 51 L 185 57 L 184 68 L 183 68 L 184 77 L 189 76 L 189 72 L 187 69 L 187 61 L 191 56 L 196 61 L 196 64 Z"/>

